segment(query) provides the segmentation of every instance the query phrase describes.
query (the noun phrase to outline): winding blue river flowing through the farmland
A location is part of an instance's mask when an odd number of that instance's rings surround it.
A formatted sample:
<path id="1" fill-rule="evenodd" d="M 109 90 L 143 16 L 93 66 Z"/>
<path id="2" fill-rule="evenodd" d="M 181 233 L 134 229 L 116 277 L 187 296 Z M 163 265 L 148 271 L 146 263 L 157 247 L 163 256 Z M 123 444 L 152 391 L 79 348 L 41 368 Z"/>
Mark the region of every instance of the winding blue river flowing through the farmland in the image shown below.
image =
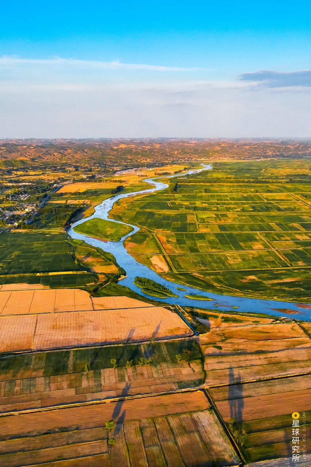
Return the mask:
<path id="1" fill-rule="evenodd" d="M 202 169 L 188 170 L 187 172 L 183 174 L 170 175 L 165 178 L 181 177 L 184 175 L 197 173 L 202 170 L 212 169 L 210 165 L 206 165 L 206 164 L 202 164 L 202 165 L 203 165 Z M 158 178 L 163 179 L 164 177 L 158 177 Z M 257 313 L 265 313 L 265 314 L 269 314 L 273 316 L 280 316 L 280 317 L 285 316 L 288 318 L 296 318 L 296 319 L 304 319 L 304 320 L 311 318 L 311 306 L 308 306 L 306 304 L 294 304 L 294 303 L 283 302 L 279 300 L 277 301 L 276 300 L 261 300 L 261 299 L 249 298 L 249 297 L 234 297 L 230 295 L 219 295 L 219 294 L 214 294 L 210 292 L 205 292 L 203 290 L 195 289 L 193 287 L 189 287 L 184 284 L 178 284 L 178 283 L 167 281 L 166 279 L 159 276 L 152 269 L 136 261 L 126 251 L 126 248 L 124 247 L 124 240 L 127 237 L 130 237 L 131 235 L 133 235 L 134 233 L 138 232 L 139 227 L 131 225 L 131 224 L 125 224 L 125 222 L 120 222 L 114 219 L 109 219 L 108 214 L 111 211 L 114 203 L 116 203 L 119 199 L 127 198 L 130 196 L 136 196 L 136 195 L 143 194 L 143 193 L 152 193 L 154 191 L 164 190 L 165 188 L 168 187 L 168 184 L 157 181 L 157 178 L 147 178 L 144 180 L 144 182 L 152 185 L 152 188 L 142 190 L 142 191 L 134 191 L 132 193 L 121 193 L 121 194 L 111 196 L 111 198 L 105 199 L 101 204 L 95 207 L 94 214 L 92 214 L 90 217 L 87 217 L 85 219 L 78 220 L 77 222 L 72 224 L 72 226 L 70 226 L 67 231 L 67 233 L 73 239 L 83 240 L 85 241 L 85 243 L 88 243 L 89 245 L 102 248 L 104 251 L 109 252 L 112 255 L 114 255 L 119 266 L 121 266 L 121 268 L 123 268 L 126 271 L 126 277 L 124 277 L 124 279 L 122 279 L 119 282 L 120 285 L 129 287 L 131 290 L 134 290 L 139 295 L 152 298 L 153 300 L 157 300 L 160 302 L 166 302 L 168 304 L 179 304 L 181 306 L 194 306 L 194 307 L 206 308 L 210 310 L 214 309 L 214 311 L 217 311 L 217 310 L 218 311 L 220 310 L 230 311 L 231 310 L 232 312 L 234 312 L 234 309 L 236 309 L 236 311 L 243 312 L 243 313 L 244 312 L 252 312 L 252 313 L 257 312 Z M 109 220 L 110 222 L 117 222 L 119 224 L 129 225 L 133 228 L 133 230 L 127 235 L 124 235 L 124 237 L 122 237 L 120 241 L 101 241 L 96 238 L 90 237 L 88 235 L 83 235 L 81 233 L 77 233 L 74 231 L 75 226 L 82 224 L 83 222 L 86 222 L 87 220 L 90 220 L 93 218 L 100 218 L 100 219 Z M 206 272 L 206 274 L 208 274 L 208 271 Z M 147 277 L 149 279 L 152 279 L 155 282 L 161 283 L 162 285 L 172 290 L 172 292 L 175 295 L 177 295 L 178 298 L 167 297 L 166 299 L 163 299 L 163 298 L 157 298 L 157 297 L 149 297 L 134 284 L 134 279 L 136 276 Z M 180 290 L 180 288 L 185 289 L 185 290 Z M 185 295 L 189 295 L 189 294 L 197 294 L 200 296 L 203 295 L 207 298 L 212 299 L 213 301 L 197 300 L 197 299 L 185 297 Z"/>

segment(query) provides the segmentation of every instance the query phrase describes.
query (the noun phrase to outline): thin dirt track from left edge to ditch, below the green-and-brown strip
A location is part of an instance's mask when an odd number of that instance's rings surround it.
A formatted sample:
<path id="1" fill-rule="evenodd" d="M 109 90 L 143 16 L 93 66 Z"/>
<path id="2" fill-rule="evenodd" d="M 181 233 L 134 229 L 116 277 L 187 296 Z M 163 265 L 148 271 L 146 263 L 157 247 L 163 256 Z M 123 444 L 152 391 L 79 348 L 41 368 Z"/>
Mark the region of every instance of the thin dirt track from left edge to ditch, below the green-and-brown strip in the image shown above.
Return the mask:
<path id="1" fill-rule="evenodd" d="M 51 405 L 50 407 L 40 407 L 37 409 L 25 409 L 25 410 L 16 410 L 11 412 L 0 413 L 1 417 L 14 417 L 18 415 L 23 415 L 27 413 L 40 413 L 40 412 L 49 412 L 51 410 L 62 410 L 62 409 L 71 409 L 75 407 L 84 407 L 86 405 L 98 405 L 98 404 L 109 404 L 111 402 L 119 402 L 119 401 L 129 401 L 133 399 L 145 399 L 147 397 L 155 397 L 155 396 L 167 396 L 173 394 L 180 394 L 183 392 L 195 392 L 195 391 L 203 391 L 204 388 L 202 386 L 196 388 L 185 388 L 185 389 L 174 389 L 173 391 L 162 391 L 162 392 L 152 392 L 149 394 L 137 394 L 133 396 L 124 396 L 124 397 L 110 397 L 109 399 L 101 399 L 99 401 L 87 401 L 87 402 L 76 402 L 71 404 L 62 404 L 62 405 Z M 205 409 L 204 409 L 205 410 Z M 184 413 L 184 412 L 181 412 Z"/>

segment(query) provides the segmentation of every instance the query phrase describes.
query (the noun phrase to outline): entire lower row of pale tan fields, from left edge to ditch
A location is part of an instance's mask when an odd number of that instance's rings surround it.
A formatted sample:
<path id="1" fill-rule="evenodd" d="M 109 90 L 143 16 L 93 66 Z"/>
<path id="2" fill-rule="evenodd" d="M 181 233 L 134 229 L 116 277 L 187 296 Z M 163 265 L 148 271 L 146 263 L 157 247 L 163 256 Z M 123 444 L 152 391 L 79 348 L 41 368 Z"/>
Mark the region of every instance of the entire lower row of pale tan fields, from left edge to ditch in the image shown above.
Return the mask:
<path id="1" fill-rule="evenodd" d="M 152 336 L 166 339 L 192 334 L 177 314 L 158 306 L 0 317 L 1 352 L 150 340 Z"/>

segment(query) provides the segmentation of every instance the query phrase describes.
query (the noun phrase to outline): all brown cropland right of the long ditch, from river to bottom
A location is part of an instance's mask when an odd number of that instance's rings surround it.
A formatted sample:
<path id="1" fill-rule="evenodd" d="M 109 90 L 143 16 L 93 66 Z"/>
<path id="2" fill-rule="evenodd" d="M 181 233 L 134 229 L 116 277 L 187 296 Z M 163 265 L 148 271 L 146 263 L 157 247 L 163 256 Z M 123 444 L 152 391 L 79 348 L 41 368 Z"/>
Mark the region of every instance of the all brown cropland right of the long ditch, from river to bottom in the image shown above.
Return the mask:
<path id="1" fill-rule="evenodd" d="M 200 338 L 208 393 L 226 423 L 229 417 L 242 422 L 245 460 L 289 457 L 292 408 L 311 414 L 309 323 L 204 310 L 194 315 L 211 328 Z"/>

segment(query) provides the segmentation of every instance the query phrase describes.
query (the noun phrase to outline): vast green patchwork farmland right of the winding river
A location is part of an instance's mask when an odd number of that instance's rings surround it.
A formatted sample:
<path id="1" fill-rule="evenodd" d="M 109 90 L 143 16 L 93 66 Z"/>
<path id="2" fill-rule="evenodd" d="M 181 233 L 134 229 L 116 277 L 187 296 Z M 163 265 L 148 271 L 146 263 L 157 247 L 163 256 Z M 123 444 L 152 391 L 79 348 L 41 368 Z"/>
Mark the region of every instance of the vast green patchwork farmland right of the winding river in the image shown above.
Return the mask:
<path id="1" fill-rule="evenodd" d="M 215 162 L 114 205 L 141 231 L 131 255 L 169 280 L 229 295 L 310 301 L 308 159 Z M 174 186 L 173 186 L 174 185 Z"/>

